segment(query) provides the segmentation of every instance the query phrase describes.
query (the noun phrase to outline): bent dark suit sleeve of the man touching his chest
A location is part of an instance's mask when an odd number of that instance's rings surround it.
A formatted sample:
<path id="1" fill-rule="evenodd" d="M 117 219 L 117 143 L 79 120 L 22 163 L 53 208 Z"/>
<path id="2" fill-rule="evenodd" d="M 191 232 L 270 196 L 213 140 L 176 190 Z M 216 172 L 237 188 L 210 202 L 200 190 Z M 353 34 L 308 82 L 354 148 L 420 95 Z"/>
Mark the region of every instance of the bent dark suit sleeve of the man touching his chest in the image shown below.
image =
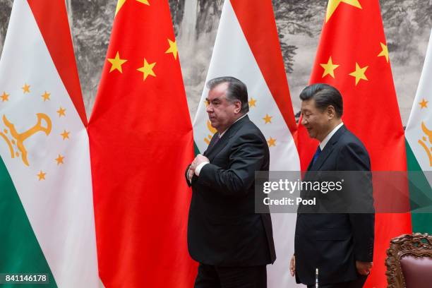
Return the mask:
<path id="1" fill-rule="evenodd" d="M 206 164 L 200 171 L 197 183 L 211 187 L 224 196 L 242 196 L 255 181 L 255 172 L 263 167 L 268 145 L 260 136 L 252 133 L 236 138 L 229 155 L 229 169 Z"/>

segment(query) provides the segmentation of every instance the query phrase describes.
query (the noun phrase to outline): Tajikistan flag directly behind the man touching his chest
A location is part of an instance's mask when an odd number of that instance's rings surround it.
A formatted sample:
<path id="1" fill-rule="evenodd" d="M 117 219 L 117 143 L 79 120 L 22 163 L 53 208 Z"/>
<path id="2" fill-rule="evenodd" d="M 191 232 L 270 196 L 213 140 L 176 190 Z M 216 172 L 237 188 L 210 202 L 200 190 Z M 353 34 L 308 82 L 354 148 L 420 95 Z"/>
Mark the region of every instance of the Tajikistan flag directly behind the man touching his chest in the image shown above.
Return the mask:
<path id="1" fill-rule="evenodd" d="M 219 76 L 233 76 L 246 84 L 248 115 L 268 140 L 270 170 L 299 171 L 293 138 L 296 122 L 270 0 L 224 2 L 206 83 Z M 205 88 L 193 123 L 200 152 L 216 132 L 205 112 L 207 95 Z M 272 214 L 277 260 L 268 265 L 270 288 L 296 285 L 289 275 L 295 220 L 295 214 Z"/>

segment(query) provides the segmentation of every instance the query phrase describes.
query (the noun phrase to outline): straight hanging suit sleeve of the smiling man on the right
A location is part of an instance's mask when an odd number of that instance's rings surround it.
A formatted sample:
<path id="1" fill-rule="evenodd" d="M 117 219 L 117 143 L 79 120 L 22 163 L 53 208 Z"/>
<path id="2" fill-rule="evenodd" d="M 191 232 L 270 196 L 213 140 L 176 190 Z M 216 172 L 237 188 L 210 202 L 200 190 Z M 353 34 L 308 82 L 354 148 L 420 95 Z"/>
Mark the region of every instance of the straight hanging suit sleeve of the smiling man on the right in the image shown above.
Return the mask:
<path id="1" fill-rule="evenodd" d="M 344 191 L 349 191 L 348 202 L 354 203 L 355 210 L 362 213 L 350 213 L 349 222 L 354 236 L 354 257 L 363 262 L 373 260 L 373 241 L 375 229 L 375 214 L 373 208 L 373 185 L 371 179 L 371 164 L 368 152 L 356 143 L 349 143 L 341 148 L 337 161 L 338 171 L 359 171 L 364 173 L 348 176 L 348 184 Z"/>

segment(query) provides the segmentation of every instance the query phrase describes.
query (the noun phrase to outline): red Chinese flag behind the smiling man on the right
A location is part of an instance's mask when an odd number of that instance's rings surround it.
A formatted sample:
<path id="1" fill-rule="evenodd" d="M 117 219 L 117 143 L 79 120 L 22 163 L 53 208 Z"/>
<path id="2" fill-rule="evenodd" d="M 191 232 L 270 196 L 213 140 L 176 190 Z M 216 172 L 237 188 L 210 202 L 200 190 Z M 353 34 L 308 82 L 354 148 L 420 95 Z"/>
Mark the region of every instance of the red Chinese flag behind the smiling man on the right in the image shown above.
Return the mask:
<path id="1" fill-rule="evenodd" d="M 340 90 L 342 120 L 366 145 L 373 171 L 407 170 L 404 131 L 378 0 L 328 2 L 310 83 L 328 83 Z M 305 170 L 318 142 L 301 125 L 298 140 Z M 374 267 L 365 287 L 387 285 L 385 250 L 392 237 L 411 232 L 409 213 L 377 213 Z"/>

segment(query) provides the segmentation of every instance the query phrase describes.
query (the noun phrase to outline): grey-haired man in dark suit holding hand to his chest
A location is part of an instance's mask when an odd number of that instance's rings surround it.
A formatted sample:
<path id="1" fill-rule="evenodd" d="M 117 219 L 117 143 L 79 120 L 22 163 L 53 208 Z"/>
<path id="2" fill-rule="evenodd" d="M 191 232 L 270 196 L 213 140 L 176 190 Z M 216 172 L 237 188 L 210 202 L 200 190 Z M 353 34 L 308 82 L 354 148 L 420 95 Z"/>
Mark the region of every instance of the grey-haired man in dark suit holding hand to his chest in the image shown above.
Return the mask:
<path id="1" fill-rule="evenodd" d="M 208 82 L 212 137 L 186 169 L 192 186 L 188 250 L 197 260 L 196 288 L 267 287 L 275 261 L 270 214 L 256 214 L 255 172 L 268 171 L 263 133 L 248 112 L 246 85 L 232 77 Z"/>

